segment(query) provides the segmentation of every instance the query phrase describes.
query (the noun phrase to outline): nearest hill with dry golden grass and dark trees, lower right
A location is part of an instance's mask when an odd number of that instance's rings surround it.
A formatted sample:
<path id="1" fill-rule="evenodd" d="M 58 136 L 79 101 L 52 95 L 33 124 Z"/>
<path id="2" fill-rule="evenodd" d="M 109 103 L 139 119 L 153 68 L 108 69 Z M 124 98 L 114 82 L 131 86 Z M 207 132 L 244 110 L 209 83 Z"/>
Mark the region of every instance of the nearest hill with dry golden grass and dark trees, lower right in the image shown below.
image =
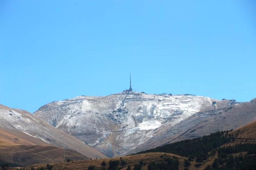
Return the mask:
<path id="1" fill-rule="evenodd" d="M 255 136 L 256 121 L 246 124 L 236 130 L 215 132 L 199 138 L 178 141 L 154 149 L 143 151 L 130 156 L 108 159 L 77 160 L 69 163 L 31 165 L 27 169 L 122 169 L 128 166 L 131 169 L 162 170 L 162 169 L 199 169 L 199 170 L 226 170 L 226 169 L 255 169 L 256 144 L 251 140 Z M 252 134 L 251 134 L 252 133 Z M 250 140 L 239 141 L 240 137 Z M 249 139 L 249 138 L 248 138 Z M 111 162 L 112 161 L 112 162 Z M 105 162 L 105 165 L 102 164 Z M 115 163 L 115 166 L 111 166 Z M 89 168 L 91 167 L 91 168 Z M 136 167 L 136 168 L 135 168 Z M 15 168 L 13 168 L 15 169 Z"/>

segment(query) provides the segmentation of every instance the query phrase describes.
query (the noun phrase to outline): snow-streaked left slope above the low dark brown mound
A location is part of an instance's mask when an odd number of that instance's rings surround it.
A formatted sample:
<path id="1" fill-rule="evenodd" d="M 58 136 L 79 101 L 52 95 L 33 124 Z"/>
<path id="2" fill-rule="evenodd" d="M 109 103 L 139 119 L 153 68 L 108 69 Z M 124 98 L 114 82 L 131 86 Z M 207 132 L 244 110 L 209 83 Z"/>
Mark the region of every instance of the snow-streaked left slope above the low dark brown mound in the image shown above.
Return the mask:
<path id="1" fill-rule="evenodd" d="M 10 145 L 56 146 L 75 150 L 87 158 L 106 157 L 83 141 L 50 126 L 25 110 L 0 105 L 0 130 L 16 136 L 8 139 L 8 143 L 12 143 Z M 0 143 L 6 141 L 0 140 Z"/>

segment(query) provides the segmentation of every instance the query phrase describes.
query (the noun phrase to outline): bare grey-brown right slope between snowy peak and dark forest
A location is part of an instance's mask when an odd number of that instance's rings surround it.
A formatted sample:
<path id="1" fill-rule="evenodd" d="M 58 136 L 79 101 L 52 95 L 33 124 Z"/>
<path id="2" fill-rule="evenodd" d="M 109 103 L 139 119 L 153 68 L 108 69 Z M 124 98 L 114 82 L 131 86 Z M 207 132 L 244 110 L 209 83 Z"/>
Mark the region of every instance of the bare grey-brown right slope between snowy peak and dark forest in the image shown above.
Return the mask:
<path id="1" fill-rule="evenodd" d="M 256 121 L 256 100 L 250 102 L 235 102 L 235 100 L 221 100 L 217 102 L 219 113 L 220 130 L 237 129 L 241 126 Z M 201 111 L 193 114 L 187 119 L 174 126 L 164 127 L 166 130 L 156 130 L 154 138 L 158 140 L 148 140 L 136 149 L 130 151 L 130 154 L 155 148 L 176 141 L 202 137 L 213 132 L 217 132 L 218 118 L 214 113 L 214 106 L 210 105 Z"/>

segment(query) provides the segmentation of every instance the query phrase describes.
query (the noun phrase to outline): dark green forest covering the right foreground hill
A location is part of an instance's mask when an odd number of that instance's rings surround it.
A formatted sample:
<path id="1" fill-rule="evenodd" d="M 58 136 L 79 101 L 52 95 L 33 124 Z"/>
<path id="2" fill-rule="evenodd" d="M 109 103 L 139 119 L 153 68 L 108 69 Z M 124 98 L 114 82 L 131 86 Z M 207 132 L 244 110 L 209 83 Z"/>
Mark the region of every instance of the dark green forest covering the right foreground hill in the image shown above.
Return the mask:
<path id="1" fill-rule="evenodd" d="M 256 143 L 236 144 L 236 131 L 211 133 L 210 135 L 159 146 L 141 153 L 173 153 L 188 157 L 185 169 L 202 170 L 253 170 L 256 169 Z M 192 167 L 192 164 L 194 166 Z M 155 168 L 154 170 L 164 170 Z"/>

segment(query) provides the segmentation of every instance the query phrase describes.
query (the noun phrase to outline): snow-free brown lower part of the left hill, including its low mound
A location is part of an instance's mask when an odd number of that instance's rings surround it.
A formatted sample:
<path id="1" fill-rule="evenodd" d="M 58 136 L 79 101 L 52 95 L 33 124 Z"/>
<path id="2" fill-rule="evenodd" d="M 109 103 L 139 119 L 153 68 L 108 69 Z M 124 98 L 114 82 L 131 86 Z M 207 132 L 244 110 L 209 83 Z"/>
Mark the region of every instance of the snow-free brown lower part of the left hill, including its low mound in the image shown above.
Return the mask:
<path id="1" fill-rule="evenodd" d="M 25 133 L 21 138 L 15 133 L 17 133 L 15 130 L 13 130 L 13 134 L 6 130 L 0 130 L 0 165 L 28 166 L 63 162 L 67 159 L 86 159 L 76 151 L 57 148 L 34 137 L 31 137 L 32 140 L 30 140 L 30 136 Z"/>

